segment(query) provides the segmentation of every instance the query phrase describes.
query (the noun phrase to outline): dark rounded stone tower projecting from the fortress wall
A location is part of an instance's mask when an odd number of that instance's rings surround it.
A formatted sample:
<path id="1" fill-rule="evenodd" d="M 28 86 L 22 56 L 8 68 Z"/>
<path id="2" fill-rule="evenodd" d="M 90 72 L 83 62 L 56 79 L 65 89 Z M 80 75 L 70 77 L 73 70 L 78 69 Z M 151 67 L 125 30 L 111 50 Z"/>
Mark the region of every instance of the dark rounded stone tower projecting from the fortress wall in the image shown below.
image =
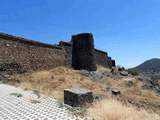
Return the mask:
<path id="1" fill-rule="evenodd" d="M 72 67 L 76 70 L 96 71 L 92 34 L 82 33 L 72 36 Z"/>

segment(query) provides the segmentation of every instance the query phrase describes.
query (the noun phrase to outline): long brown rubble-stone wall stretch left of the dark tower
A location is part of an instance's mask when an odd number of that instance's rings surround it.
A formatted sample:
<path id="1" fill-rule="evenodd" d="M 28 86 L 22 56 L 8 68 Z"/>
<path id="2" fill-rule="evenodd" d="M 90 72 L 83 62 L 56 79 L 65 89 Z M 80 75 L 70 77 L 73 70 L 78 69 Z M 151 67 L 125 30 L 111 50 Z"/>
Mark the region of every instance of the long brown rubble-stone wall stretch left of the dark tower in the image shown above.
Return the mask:
<path id="1" fill-rule="evenodd" d="M 0 35 L 0 71 L 25 72 L 66 65 L 66 52 L 60 47 Z"/>

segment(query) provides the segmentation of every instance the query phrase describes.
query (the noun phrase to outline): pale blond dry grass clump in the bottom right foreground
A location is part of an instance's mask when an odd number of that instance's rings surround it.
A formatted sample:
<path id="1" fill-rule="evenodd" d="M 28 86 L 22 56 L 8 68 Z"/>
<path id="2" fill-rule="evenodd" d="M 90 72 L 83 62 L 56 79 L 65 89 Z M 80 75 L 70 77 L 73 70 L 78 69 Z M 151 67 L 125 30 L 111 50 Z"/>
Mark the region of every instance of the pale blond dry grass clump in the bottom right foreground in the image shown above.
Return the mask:
<path id="1" fill-rule="evenodd" d="M 103 100 L 88 109 L 88 115 L 95 120 L 160 120 L 160 116 L 127 107 L 116 100 Z"/>

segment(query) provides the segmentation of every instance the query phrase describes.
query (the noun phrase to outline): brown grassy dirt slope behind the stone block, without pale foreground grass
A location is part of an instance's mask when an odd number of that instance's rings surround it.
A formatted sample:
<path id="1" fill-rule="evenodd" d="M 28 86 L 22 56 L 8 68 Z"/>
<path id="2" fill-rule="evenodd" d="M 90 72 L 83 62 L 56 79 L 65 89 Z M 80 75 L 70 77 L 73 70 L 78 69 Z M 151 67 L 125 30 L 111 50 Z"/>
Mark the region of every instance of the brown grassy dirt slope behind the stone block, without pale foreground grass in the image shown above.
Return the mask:
<path id="1" fill-rule="evenodd" d="M 100 68 L 100 70 L 105 69 Z M 128 80 L 133 81 L 132 87 L 128 87 Z M 63 101 L 64 89 L 83 87 L 93 91 L 95 95 L 101 96 L 103 100 L 118 100 L 128 107 L 135 107 L 137 110 L 144 109 L 149 113 L 154 112 L 160 115 L 160 95 L 157 95 L 154 91 L 142 89 L 143 82 L 136 77 L 122 77 L 120 79 L 106 77 L 105 79 L 91 80 L 89 77 L 80 74 L 80 71 L 58 67 L 48 71 L 13 75 L 8 84 L 25 90 L 37 90 L 59 101 Z M 118 88 L 121 95 L 112 96 L 112 88 Z"/>

